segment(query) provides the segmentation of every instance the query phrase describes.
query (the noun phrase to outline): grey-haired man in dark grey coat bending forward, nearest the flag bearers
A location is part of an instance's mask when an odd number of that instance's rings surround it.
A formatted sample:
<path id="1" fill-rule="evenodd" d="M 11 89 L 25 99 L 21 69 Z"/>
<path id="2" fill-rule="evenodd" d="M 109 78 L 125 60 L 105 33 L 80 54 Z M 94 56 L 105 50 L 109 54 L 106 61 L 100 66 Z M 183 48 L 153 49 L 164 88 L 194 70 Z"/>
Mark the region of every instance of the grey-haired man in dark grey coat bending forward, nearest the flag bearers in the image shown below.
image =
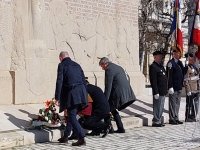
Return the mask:
<path id="1" fill-rule="evenodd" d="M 116 109 L 125 109 L 136 100 L 136 97 L 121 66 L 111 63 L 106 57 L 101 58 L 99 65 L 105 70 L 104 94 L 110 104 L 110 111 L 117 124 L 118 129 L 115 132 L 124 133 L 124 126 Z"/>

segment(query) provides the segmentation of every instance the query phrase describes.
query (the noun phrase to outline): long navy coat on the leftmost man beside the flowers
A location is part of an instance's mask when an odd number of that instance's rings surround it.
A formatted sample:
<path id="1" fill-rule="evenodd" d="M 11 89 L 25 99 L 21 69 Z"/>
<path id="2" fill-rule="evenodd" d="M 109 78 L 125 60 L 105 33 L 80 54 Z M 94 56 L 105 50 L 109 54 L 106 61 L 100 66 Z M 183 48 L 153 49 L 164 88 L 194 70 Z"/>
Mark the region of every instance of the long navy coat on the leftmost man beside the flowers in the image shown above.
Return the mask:
<path id="1" fill-rule="evenodd" d="M 55 99 L 60 100 L 60 112 L 75 105 L 82 109 L 88 103 L 83 70 L 70 58 L 58 65 Z"/>

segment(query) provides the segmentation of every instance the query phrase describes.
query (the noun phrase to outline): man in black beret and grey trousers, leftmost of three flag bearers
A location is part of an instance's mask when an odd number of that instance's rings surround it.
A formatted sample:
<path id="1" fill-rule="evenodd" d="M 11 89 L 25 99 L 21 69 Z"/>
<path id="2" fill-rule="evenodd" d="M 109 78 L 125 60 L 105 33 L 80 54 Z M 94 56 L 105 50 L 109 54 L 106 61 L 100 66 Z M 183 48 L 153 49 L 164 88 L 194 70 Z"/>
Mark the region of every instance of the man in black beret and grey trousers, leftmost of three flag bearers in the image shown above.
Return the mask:
<path id="1" fill-rule="evenodd" d="M 161 64 L 162 53 L 155 51 L 153 53 L 154 62 L 149 67 L 150 83 L 153 91 L 153 127 L 162 127 L 162 114 L 167 94 L 167 77 L 165 69 Z"/>

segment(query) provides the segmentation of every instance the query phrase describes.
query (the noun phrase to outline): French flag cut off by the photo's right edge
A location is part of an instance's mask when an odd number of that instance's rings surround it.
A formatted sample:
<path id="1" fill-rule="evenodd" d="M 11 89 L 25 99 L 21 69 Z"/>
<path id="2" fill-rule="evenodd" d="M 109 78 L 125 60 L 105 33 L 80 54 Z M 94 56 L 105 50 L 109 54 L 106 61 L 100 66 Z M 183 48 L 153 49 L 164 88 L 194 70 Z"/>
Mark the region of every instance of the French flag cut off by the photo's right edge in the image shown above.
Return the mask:
<path id="1" fill-rule="evenodd" d="M 194 20 L 194 28 L 192 31 L 192 43 L 200 46 L 200 0 L 198 0 L 196 6 L 196 16 Z"/>

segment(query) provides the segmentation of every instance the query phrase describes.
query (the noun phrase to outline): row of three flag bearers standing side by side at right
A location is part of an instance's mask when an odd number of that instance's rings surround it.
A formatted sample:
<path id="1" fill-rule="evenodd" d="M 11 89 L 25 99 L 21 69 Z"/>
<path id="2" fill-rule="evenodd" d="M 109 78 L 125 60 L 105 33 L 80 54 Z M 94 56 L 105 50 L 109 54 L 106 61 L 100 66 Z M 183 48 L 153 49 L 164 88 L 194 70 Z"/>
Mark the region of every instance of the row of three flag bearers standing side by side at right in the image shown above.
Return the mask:
<path id="1" fill-rule="evenodd" d="M 163 127 L 162 114 L 165 96 L 169 94 L 169 124 L 183 124 L 179 120 L 179 108 L 182 88 L 186 92 L 185 122 L 196 122 L 199 107 L 199 66 L 195 54 L 186 54 L 183 65 L 179 51 L 173 51 L 173 58 L 168 61 L 166 70 L 162 65 L 160 51 L 153 53 L 154 61 L 149 68 L 150 83 L 153 91 L 152 126 Z"/>

